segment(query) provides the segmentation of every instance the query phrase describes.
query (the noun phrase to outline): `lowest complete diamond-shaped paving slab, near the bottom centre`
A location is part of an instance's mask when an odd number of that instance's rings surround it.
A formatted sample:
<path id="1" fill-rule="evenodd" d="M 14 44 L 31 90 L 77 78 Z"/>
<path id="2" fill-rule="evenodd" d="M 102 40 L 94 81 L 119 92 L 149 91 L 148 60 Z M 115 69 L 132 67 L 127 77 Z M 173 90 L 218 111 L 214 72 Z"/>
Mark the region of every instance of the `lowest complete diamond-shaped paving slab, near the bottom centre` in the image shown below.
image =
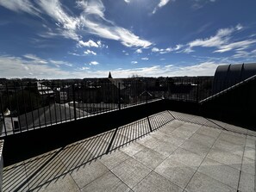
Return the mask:
<path id="1" fill-rule="evenodd" d="M 136 184 L 140 183 L 151 170 L 134 158 L 128 158 L 126 161 L 122 162 L 122 164 L 116 166 L 112 172 L 132 189 Z"/>

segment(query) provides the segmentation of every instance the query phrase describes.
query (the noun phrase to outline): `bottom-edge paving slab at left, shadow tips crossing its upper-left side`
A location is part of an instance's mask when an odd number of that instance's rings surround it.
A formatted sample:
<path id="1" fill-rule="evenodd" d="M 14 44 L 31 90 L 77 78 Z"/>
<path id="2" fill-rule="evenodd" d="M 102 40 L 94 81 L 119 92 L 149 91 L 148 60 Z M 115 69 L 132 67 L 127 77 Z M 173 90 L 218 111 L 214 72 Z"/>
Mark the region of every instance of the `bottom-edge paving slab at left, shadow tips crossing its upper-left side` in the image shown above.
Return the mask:
<path id="1" fill-rule="evenodd" d="M 34 189 L 29 191 L 38 191 L 38 192 L 70 192 L 78 191 L 78 185 L 74 182 L 72 177 L 69 174 L 65 174 L 59 178 L 53 179 L 51 182 L 42 183 L 41 185 L 36 186 Z"/>

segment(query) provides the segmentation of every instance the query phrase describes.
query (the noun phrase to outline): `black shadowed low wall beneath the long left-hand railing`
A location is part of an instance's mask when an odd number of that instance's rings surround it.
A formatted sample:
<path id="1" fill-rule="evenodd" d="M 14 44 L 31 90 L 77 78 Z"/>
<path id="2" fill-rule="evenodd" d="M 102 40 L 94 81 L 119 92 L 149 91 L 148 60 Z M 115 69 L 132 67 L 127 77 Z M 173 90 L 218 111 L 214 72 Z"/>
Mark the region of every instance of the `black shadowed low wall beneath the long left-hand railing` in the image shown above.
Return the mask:
<path id="1" fill-rule="evenodd" d="M 35 157 L 165 110 L 165 100 L 4 137 L 4 166 Z"/>

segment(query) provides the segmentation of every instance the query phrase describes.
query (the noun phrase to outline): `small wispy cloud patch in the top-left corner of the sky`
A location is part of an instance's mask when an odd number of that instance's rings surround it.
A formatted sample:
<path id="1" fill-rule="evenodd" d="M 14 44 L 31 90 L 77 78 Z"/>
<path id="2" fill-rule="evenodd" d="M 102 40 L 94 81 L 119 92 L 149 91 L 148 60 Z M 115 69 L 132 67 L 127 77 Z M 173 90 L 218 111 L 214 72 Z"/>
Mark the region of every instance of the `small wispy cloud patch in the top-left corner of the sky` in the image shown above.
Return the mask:
<path id="1" fill-rule="evenodd" d="M 40 10 L 34 7 L 33 3 L 29 0 L 2 0 L 0 5 L 6 9 L 10 9 L 16 12 L 26 12 L 31 15 L 39 15 Z"/>

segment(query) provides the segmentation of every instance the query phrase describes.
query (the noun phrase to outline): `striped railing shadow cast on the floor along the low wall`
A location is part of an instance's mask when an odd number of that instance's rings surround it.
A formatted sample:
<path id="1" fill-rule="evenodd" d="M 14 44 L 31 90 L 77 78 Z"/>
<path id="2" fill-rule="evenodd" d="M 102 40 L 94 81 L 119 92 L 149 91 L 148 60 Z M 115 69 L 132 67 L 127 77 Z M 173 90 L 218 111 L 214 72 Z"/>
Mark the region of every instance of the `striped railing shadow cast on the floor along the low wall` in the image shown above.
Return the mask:
<path id="1" fill-rule="evenodd" d="M 160 112 L 6 167 L 3 170 L 3 191 L 24 191 L 28 186 L 29 190 L 40 190 L 173 120 L 168 111 Z"/>

